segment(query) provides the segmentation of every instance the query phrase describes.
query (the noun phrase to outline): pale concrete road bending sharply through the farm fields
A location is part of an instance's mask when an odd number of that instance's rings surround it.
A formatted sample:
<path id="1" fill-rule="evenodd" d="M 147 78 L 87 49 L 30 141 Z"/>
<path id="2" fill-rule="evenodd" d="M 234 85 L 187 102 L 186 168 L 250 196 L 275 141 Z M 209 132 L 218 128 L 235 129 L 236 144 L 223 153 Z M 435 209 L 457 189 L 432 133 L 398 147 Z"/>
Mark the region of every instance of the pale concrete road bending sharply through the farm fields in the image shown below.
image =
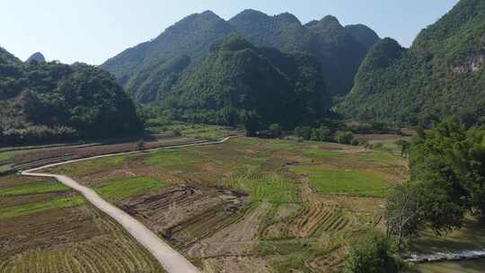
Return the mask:
<path id="1" fill-rule="evenodd" d="M 156 149 L 146 150 L 146 151 L 183 148 L 183 147 L 198 146 L 198 145 L 216 145 L 216 144 L 225 143 L 230 138 L 232 137 L 226 137 L 221 141 L 215 141 L 215 142 L 200 142 L 200 143 L 192 143 L 189 145 L 174 145 L 174 146 L 156 148 Z M 113 218 L 128 233 L 130 233 L 133 236 L 133 238 L 137 240 L 137 242 L 142 244 L 147 251 L 152 253 L 154 255 L 154 258 L 160 262 L 163 269 L 165 269 L 168 273 L 200 273 L 200 271 L 194 265 L 192 265 L 192 263 L 190 263 L 189 260 L 185 259 L 185 257 L 181 255 L 181 253 L 173 250 L 170 245 L 168 245 L 166 242 L 163 242 L 163 240 L 160 239 L 160 237 L 158 237 L 155 233 L 153 233 L 148 228 L 146 228 L 145 225 L 137 221 L 137 219 L 135 219 L 132 216 L 129 216 L 123 210 L 111 205 L 109 202 L 101 198 L 93 189 L 84 187 L 83 185 L 74 181 L 72 178 L 69 178 L 65 175 L 38 172 L 42 169 L 47 169 L 50 167 L 55 167 L 58 165 L 64 165 L 68 163 L 76 163 L 76 162 L 82 162 L 87 160 L 93 160 L 97 158 L 119 156 L 124 154 L 137 154 L 137 153 L 140 153 L 140 152 L 136 151 L 136 152 L 121 153 L 121 154 L 104 154 L 104 155 L 98 155 L 98 156 L 93 156 L 93 157 L 84 158 L 84 159 L 66 161 L 64 163 L 48 164 L 46 166 L 42 166 L 39 168 L 23 171 L 21 172 L 21 174 L 26 176 L 55 178 L 57 179 L 57 181 L 65 184 L 67 187 L 70 187 L 80 192 L 84 196 L 84 198 L 86 198 L 89 202 L 93 204 L 94 207 L 97 207 L 102 212 L 104 212 L 105 214 Z"/>

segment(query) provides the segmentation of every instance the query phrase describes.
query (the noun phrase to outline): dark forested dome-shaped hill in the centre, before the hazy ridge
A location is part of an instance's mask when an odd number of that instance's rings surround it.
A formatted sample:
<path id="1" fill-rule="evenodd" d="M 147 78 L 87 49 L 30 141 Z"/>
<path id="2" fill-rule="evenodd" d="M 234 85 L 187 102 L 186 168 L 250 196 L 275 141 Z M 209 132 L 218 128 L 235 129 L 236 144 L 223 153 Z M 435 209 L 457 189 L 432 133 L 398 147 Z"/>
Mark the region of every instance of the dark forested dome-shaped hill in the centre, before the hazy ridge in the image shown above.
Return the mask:
<path id="1" fill-rule="evenodd" d="M 322 118 L 329 108 L 321 75 L 308 54 L 256 48 L 234 34 L 216 42 L 161 104 L 199 122 L 234 125 L 253 112 L 263 124 L 290 127 Z"/>

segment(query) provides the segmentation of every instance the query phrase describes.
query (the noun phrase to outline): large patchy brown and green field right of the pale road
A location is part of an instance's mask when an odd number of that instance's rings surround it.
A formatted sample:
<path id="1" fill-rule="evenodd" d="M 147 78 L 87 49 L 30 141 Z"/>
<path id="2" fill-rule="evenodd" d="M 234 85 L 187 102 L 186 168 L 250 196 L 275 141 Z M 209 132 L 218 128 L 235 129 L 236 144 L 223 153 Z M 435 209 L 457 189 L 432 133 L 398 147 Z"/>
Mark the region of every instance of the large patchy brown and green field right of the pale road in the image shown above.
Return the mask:
<path id="1" fill-rule="evenodd" d="M 349 242 L 383 228 L 384 192 L 408 176 L 382 151 L 254 138 L 45 172 L 96 189 L 204 272 L 337 272 Z"/>

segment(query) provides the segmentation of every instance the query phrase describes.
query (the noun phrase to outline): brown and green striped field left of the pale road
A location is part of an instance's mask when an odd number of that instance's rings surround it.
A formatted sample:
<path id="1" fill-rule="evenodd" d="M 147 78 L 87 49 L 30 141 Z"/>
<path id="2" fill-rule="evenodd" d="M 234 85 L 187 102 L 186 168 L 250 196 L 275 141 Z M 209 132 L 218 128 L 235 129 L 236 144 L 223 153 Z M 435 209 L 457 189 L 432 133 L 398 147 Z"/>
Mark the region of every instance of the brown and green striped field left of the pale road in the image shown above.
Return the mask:
<path id="1" fill-rule="evenodd" d="M 2 273 L 164 272 L 124 230 L 57 181 L 3 176 L 0 196 Z"/>

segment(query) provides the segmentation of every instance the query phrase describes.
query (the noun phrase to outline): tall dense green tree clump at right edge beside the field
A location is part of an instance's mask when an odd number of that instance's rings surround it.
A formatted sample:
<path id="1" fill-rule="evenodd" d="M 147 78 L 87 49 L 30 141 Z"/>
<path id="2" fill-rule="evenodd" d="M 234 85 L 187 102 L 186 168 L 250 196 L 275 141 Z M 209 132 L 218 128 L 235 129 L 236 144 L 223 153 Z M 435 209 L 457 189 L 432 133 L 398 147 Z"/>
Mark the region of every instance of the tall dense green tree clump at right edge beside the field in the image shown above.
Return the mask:
<path id="1" fill-rule="evenodd" d="M 388 234 L 401 245 L 424 225 L 438 235 L 485 211 L 485 130 L 446 121 L 410 146 L 411 181 L 387 200 Z"/>

